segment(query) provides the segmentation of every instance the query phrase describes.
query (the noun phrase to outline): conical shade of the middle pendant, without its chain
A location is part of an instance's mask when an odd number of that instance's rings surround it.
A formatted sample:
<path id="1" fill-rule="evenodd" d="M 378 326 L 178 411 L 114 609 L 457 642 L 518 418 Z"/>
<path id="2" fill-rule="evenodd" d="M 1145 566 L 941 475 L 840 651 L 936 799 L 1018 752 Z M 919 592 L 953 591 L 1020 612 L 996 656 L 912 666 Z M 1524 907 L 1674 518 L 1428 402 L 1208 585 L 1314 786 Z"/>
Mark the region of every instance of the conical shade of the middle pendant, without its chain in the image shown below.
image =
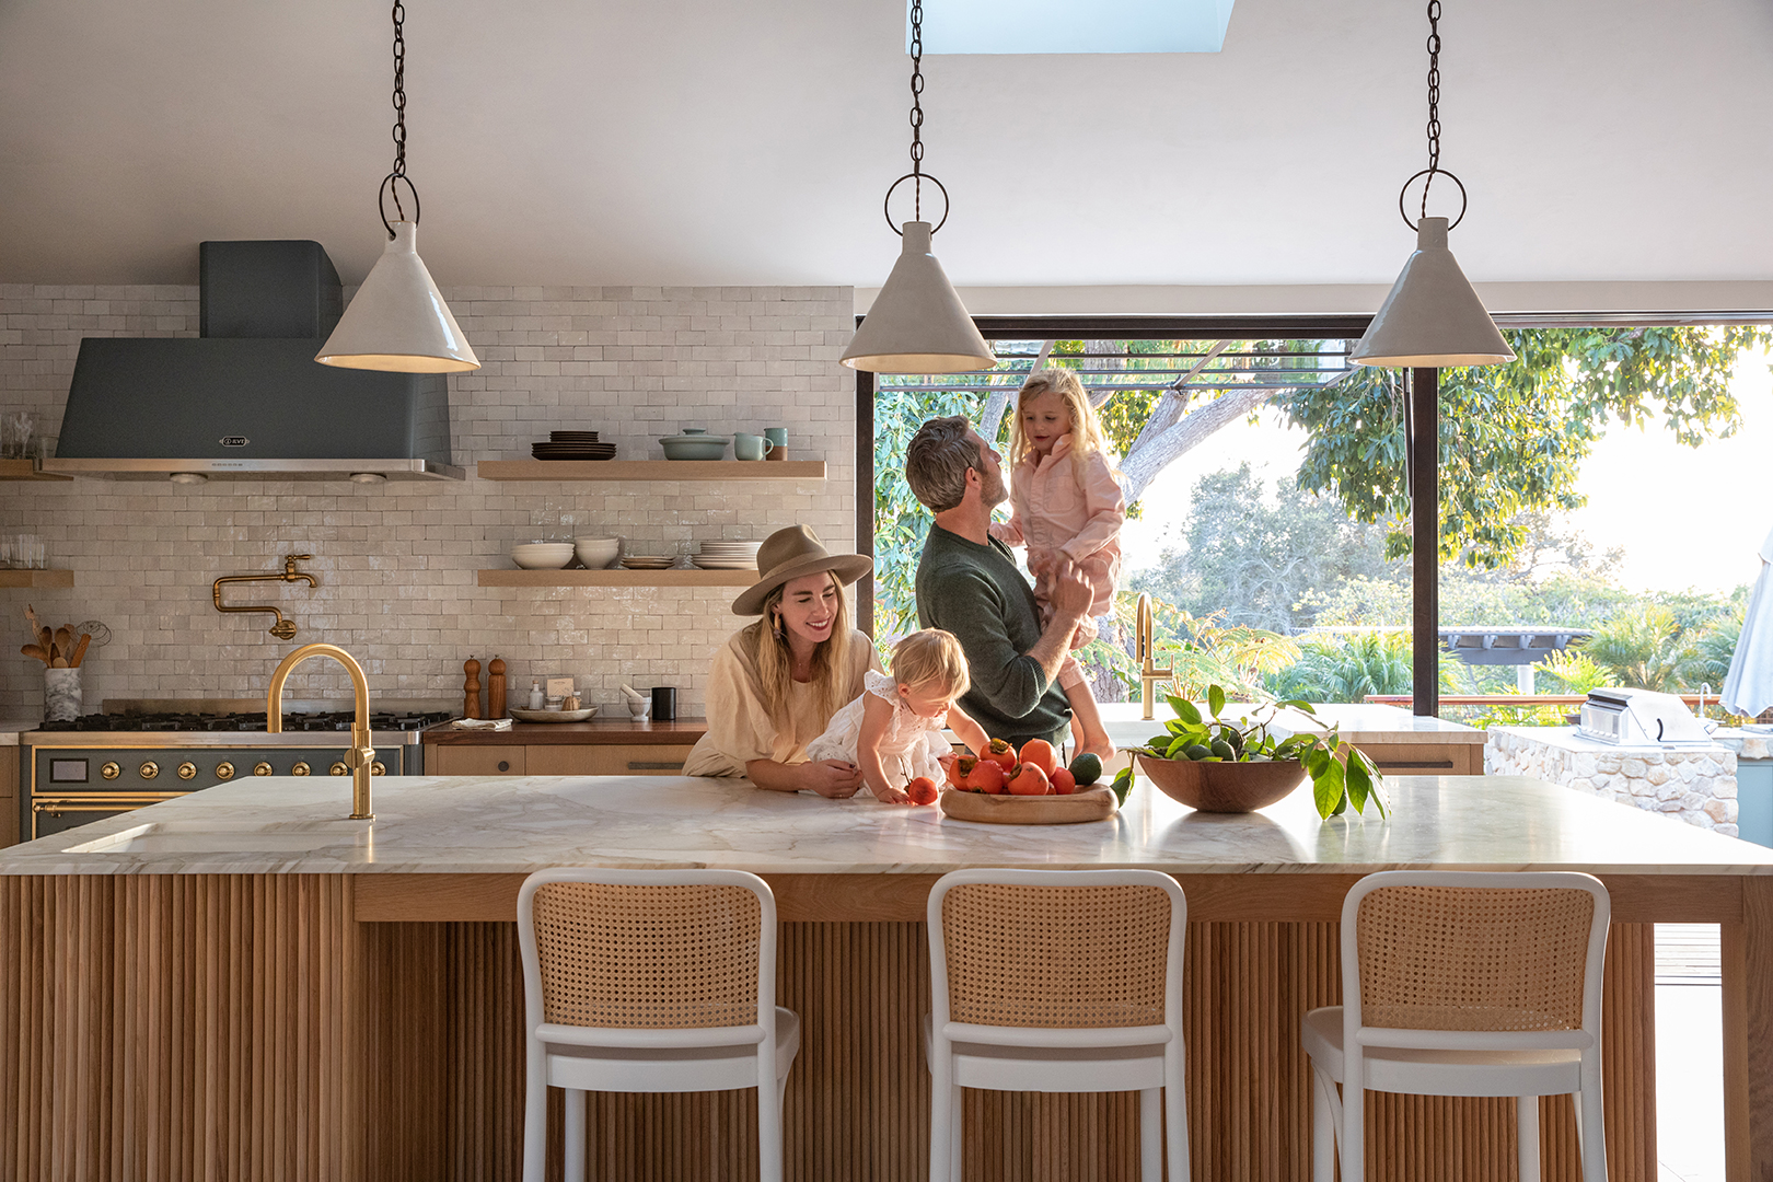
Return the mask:
<path id="1" fill-rule="evenodd" d="M 904 223 L 904 250 L 842 362 L 876 374 L 959 374 L 996 358 L 929 253 L 929 222 Z"/>

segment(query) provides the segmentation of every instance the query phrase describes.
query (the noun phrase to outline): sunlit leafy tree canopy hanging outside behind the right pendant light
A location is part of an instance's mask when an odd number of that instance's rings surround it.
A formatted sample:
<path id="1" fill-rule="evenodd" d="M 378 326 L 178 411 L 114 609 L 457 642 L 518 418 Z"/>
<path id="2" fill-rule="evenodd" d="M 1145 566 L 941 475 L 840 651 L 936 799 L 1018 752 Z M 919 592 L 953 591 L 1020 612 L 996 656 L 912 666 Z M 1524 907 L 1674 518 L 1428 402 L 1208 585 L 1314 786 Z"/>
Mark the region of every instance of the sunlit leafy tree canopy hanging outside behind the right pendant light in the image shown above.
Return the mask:
<path id="1" fill-rule="evenodd" d="M 1734 432 L 1736 356 L 1773 342 L 1759 326 L 1505 335 L 1514 363 L 1440 376 L 1441 558 L 1482 569 L 1527 542 L 1523 512 L 1582 505 L 1576 473 L 1608 418 L 1642 429 L 1661 416 L 1688 447 Z M 1369 525 L 1408 517 L 1399 370 L 1356 367 L 1330 390 L 1280 392 L 1273 404 L 1310 432 L 1300 487 L 1335 491 Z M 1408 551 L 1410 535 L 1394 526 L 1386 553 Z"/>

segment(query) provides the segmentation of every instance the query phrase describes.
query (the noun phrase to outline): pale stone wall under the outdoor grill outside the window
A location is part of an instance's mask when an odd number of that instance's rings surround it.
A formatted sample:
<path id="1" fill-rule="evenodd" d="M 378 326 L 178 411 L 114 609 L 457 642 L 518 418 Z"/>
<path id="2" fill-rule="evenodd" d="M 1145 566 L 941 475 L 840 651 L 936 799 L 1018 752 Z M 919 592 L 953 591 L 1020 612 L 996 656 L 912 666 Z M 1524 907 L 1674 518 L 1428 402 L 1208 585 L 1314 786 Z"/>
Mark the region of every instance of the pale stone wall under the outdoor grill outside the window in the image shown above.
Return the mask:
<path id="1" fill-rule="evenodd" d="M 1736 751 L 1619 748 L 1571 741 L 1567 727 L 1495 727 L 1484 748 L 1493 776 L 1534 776 L 1606 801 L 1667 813 L 1736 836 Z"/>

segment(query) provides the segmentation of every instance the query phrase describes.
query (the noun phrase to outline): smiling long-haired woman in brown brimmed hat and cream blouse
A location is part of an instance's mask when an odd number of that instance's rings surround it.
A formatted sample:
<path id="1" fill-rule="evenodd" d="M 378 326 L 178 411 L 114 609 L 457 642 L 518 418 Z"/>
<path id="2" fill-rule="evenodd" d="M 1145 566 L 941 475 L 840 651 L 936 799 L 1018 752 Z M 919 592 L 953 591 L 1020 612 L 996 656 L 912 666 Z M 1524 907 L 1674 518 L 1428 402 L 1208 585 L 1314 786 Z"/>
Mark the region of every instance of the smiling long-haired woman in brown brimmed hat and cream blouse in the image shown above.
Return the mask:
<path id="1" fill-rule="evenodd" d="M 757 548 L 757 583 L 732 601 L 734 615 L 762 615 L 715 654 L 707 675 L 707 734 L 684 762 L 688 776 L 750 776 L 759 789 L 856 794 L 862 769 L 808 760 L 842 705 L 881 663 L 849 627 L 844 587 L 874 567 L 865 555 L 833 555 L 807 526 L 777 530 Z"/>

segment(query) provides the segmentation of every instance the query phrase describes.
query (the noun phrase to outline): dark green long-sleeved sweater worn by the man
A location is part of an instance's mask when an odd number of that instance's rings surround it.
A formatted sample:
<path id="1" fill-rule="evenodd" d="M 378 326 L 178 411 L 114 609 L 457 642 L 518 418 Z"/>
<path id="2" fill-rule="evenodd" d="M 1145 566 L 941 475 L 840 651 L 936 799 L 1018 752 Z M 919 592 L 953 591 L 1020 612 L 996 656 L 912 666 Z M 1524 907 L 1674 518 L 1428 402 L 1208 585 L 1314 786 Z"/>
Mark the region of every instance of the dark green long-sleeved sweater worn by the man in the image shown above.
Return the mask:
<path id="1" fill-rule="evenodd" d="M 973 679 L 961 709 L 988 735 L 1018 748 L 1028 739 L 1057 744 L 1071 705 L 1028 656 L 1041 640 L 1041 610 L 1004 542 L 993 537 L 980 546 L 929 526 L 917 564 L 917 622 L 959 638 Z"/>

